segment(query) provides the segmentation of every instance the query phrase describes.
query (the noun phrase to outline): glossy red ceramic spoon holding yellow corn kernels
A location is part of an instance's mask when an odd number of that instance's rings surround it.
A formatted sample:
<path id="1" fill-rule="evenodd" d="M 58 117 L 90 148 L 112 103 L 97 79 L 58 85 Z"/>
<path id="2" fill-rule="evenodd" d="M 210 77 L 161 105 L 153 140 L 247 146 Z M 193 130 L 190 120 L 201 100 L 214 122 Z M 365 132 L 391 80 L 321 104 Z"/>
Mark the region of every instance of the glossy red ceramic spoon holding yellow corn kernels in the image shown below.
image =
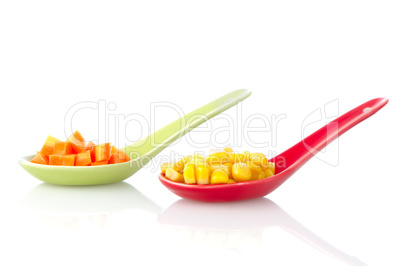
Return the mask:
<path id="1" fill-rule="evenodd" d="M 219 185 L 188 185 L 165 178 L 159 180 L 176 195 L 206 202 L 235 201 L 263 197 L 283 184 L 291 175 L 302 167 L 315 153 L 327 146 L 340 135 L 372 116 L 388 103 L 388 99 L 370 100 L 340 116 L 320 128 L 290 149 L 270 159 L 275 163 L 276 174 L 272 177 Z"/>

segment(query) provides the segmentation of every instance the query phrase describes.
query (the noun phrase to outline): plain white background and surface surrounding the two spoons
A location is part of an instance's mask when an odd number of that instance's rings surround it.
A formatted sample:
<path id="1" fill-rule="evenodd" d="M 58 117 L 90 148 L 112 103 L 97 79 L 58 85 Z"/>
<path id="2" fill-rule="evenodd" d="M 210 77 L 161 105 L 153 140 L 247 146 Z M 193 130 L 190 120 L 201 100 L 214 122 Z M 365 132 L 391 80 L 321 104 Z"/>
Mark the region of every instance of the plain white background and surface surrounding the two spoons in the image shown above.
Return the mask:
<path id="1" fill-rule="evenodd" d="M 1 1 L 0 264 L 401 265 L 401 14 L 400 1 Z M 390 102 L 259 200 L 180 200 L 151 165 L 125 183 L 68 188 L 17 164 L 48 134 L 66 137 L 77 103 L 112 102 L 112 116 L 159 128 L 178 115 L 151 117 L 152 103 L 187 113 L 239 88 L 253 92 L 243 117 L 286 115 L 275 133 L 250 135 L 269 145 L 231 143 L 240 151 L 287 149 L 329 122 L 303 126 L 333 101 L 336 115 Z M 72 127 L 97 139 L 97 122 L 83 111 Z M 194 150 L 183 138 L 160 156 Z"/>

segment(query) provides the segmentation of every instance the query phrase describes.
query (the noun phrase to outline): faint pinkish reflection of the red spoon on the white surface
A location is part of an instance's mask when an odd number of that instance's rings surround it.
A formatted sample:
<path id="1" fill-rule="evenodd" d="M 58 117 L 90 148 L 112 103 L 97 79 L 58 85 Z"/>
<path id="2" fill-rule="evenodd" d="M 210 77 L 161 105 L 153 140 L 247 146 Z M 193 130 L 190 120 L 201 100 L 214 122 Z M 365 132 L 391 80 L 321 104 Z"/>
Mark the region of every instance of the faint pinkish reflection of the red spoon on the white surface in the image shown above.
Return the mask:
<path id="1" fill-rule="evenodd" d="M 255 234 L 256 230 L 277 226 L 348 265 L 366 265 L 316 236 L 267 198 L 212 205 L 181 199 L 159 215 L 158 223 L 194 231 L 204 230 L 210 235 L 213 232 L 229 232 L 229 236 L 230 232 L 236 235 L 239 232 Z"/>

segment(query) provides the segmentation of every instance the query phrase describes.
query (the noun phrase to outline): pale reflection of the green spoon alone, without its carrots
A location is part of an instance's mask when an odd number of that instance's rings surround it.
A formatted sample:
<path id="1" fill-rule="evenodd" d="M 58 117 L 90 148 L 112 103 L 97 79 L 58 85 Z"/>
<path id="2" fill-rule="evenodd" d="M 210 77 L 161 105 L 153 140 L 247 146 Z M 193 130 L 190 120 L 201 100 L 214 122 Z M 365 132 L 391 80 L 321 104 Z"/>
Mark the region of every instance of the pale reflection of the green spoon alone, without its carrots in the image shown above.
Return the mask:
<path id="1" fill-rule="evenodd" d="M 20 203 L 24 209 L 53 215 L 94 215 L 128 209 L 159 214 L 161 208 L 126 182 L 98 186 L 57 186 L 42 183 Z"/>

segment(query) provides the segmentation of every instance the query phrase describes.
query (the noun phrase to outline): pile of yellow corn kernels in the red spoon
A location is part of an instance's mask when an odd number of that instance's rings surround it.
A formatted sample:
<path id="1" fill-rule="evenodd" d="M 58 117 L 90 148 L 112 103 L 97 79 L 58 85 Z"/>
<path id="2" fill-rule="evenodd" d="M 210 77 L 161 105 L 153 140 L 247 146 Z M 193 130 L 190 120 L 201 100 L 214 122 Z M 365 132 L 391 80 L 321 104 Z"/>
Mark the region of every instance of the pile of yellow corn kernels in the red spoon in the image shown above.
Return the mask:
<path id="1" fill-rule="evenodd" d="M 188 155 L 177 162 L 161 164 L 165 177 L 186 184 L 227 184 L 259 180 L 275 175 L 275 164 L 262 153 L 235 153 L 232 148 L 215 150 L 208 157 Z"/>

